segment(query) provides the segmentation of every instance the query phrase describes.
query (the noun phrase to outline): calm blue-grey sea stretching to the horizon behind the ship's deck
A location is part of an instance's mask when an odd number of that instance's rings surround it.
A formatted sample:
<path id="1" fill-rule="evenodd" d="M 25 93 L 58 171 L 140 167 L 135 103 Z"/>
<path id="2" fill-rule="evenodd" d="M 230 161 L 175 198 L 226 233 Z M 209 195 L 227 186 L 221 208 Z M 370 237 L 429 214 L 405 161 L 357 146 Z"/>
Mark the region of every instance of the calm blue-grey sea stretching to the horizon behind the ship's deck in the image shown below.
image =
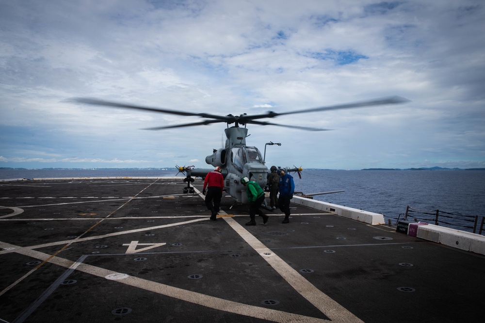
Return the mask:
<path id="1" fill-rule="evenodd" d="M 0 169 L 0 179 L 58 178 L 58 177 L 171 177 L 177 170 L 138 169 Z M 178 174 L 182 177 L 183 175 Z M 342 193 L 315 196 L 315 200 L 345 205 L 381 213 L 393 222 L 404 214 L 406 206 L 429 211 L 412 212 L 412 218 L 434 223 L 434 214 L 452 213 L 451 218 L 440 215 L 440 225 L 470 231 L 473 218 L 485 216 L 485 171 L 480 170 L 304 170 L 302 179 L 293 174 L 296 191 L 316 193 L 345 190 Z M 428 214 L 426 214 L 428 213 Z M 441 213 L 440 213 L 441 214 Z M 446 215 L 446 214 L 445 214 Z M 401 218 L 403 215 L 401 215 Z M 478 230 L 477 230 L 478 233 Z M 485 234 L 483 232 L 482 234 Z"/>

